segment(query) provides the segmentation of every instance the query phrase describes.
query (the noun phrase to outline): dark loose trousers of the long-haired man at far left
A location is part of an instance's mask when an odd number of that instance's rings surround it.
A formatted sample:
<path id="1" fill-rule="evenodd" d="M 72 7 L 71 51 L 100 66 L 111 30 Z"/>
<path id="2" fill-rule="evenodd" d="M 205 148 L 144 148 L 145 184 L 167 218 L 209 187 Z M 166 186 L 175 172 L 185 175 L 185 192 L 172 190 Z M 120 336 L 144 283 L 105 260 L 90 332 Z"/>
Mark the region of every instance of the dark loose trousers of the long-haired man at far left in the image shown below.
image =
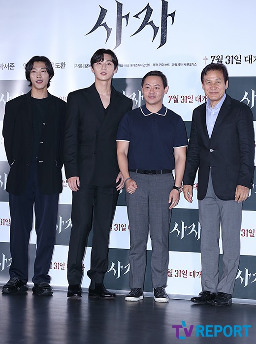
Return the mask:
<path id="1" fill-rule="evenodd" d="M 51 264 L 58 213 L 59 194 L 44 195 L 39 190 L 36 158 L 32 161 L 29 181 L 21 195 L 9 194 L 11 215 L 10 252 L 12 262 L 10 277 L 17 276 L 28 282 L 28 247 L 35 213 L 36 258 L 33 283 L 50 282 Z"/>

